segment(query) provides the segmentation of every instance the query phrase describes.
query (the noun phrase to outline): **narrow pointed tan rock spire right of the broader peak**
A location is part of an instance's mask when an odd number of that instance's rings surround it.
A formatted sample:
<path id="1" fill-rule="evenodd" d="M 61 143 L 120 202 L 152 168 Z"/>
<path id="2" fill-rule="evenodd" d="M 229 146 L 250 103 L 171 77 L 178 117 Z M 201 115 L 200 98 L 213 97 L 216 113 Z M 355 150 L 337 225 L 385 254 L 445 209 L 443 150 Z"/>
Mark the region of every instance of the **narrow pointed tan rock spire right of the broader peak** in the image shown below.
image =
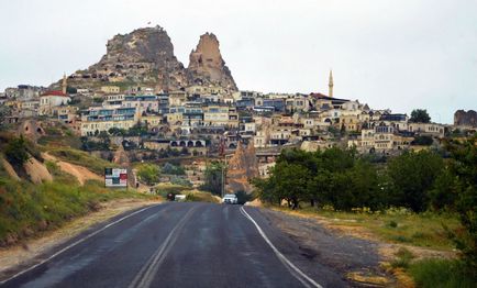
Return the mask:
<path id="1" fill-rule="evenodd" d="M 219 41 L 212 33 L 200 36 L 199 44 L 190 53 L 187 71 L 190 84 L 213 85 L 228 90 L 237 90 L 232 73 L 220 54 Z"/>

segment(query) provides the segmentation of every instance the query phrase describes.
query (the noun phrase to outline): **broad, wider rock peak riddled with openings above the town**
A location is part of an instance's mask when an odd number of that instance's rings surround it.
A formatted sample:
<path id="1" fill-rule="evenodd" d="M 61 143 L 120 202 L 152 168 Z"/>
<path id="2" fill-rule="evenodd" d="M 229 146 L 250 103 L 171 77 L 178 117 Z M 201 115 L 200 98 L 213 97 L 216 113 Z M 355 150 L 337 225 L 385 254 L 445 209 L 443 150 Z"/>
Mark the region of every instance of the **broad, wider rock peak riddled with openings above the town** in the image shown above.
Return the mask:
<path id="1" fill-rule="evenodd" d="M 129 84 L 174 90 L 187 86 L 187 78 L 167 32 L 155 26 L 115 35 L 100 62 L 71 75 L 68 82 L 77 88 Z"/>

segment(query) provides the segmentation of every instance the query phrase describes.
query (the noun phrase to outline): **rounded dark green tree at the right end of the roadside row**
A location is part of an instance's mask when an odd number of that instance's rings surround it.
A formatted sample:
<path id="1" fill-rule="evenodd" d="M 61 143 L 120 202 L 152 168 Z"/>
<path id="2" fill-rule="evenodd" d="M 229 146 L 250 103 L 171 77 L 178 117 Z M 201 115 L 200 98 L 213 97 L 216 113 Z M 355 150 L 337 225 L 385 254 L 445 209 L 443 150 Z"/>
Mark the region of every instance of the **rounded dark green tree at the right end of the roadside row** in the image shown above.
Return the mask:
<path id="1" fill-rule="evenodd" d="M 392 184 L 391 204 L 424 211 L 429 206 L 429 192 L 443 167 L 442 158 L 428 151 L 404 152 L 391 159 L 387 167 Z"/>

